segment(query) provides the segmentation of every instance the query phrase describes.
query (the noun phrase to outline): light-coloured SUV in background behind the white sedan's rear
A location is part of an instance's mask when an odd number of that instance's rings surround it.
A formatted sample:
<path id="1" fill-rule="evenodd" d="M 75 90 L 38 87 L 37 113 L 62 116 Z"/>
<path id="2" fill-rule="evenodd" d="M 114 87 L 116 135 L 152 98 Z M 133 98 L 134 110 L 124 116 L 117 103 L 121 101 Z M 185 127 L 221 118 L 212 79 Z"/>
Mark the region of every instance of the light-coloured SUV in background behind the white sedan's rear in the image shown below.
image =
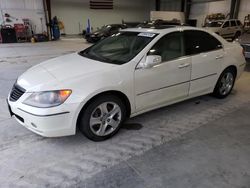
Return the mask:
<path id="1" fill-rule="evenodd" d="M 223 38 L 236 39 L 243 33 L 243 26 L 239 20 L 216 20 L 205 24 L 205 28 L 217 33 Z"/>

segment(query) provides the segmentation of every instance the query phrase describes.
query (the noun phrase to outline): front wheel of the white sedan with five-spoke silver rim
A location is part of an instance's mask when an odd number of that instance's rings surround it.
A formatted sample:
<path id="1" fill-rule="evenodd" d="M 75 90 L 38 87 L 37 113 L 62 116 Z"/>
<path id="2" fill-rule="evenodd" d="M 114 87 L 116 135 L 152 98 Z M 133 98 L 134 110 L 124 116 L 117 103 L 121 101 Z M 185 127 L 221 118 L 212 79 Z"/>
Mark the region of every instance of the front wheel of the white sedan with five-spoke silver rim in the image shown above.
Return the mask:
<path id="1" fill-rule="evenodd" d="M 79 129 L 90 140 L 103 141 L 119 131 L 125 116 L 125 105 L 118 97 L 102 95 L 83 111 Z"/>

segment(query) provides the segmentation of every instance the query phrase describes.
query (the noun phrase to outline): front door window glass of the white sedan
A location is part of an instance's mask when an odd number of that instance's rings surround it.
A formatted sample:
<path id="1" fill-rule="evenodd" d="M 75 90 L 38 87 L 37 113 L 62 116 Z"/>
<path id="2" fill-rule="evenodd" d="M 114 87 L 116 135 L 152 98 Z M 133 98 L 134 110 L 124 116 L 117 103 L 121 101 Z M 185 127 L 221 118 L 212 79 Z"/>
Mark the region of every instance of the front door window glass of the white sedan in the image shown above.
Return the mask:
<path id="1" fill-rule="evenodd" d="M 160 55 L 162 61 L 169 61 L 184 55 L 182 34 L 174 32 L 162 37 L 148 55 Z"/>

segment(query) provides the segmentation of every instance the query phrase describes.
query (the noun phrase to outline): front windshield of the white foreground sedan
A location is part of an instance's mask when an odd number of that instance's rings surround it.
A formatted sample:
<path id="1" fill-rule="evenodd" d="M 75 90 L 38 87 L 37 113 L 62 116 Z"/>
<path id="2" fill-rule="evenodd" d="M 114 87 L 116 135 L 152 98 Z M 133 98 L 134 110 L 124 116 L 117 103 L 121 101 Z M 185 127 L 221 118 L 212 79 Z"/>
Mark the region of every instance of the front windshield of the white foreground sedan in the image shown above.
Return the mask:
<path id="1" fill-rule="evenodd" d="M 79 52 L 79 55 L 121 65 L 133 59 L 156 35 L 155 33 L 120 32 Z"/>

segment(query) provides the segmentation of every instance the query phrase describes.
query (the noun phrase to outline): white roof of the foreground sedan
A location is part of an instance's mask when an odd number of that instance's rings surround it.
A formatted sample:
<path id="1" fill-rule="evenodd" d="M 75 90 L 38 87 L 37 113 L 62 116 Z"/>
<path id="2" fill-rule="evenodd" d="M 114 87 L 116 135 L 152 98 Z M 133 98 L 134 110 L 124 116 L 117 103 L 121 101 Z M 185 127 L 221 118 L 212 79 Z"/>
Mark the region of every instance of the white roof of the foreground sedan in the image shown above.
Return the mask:
<path id="1" fill-rule="evenodd" d="M 166 26 L 161 28 L 128 28 L 123 29 L 123 32 L 141 32 L 141 33 L 157 33 L 157 34 L 166 34 L 173 31 L 183 31 L 183 30 L 197 30 L 197 31 L 205 31 L 204 29 L 191 27 L 191 26 Z"/>

